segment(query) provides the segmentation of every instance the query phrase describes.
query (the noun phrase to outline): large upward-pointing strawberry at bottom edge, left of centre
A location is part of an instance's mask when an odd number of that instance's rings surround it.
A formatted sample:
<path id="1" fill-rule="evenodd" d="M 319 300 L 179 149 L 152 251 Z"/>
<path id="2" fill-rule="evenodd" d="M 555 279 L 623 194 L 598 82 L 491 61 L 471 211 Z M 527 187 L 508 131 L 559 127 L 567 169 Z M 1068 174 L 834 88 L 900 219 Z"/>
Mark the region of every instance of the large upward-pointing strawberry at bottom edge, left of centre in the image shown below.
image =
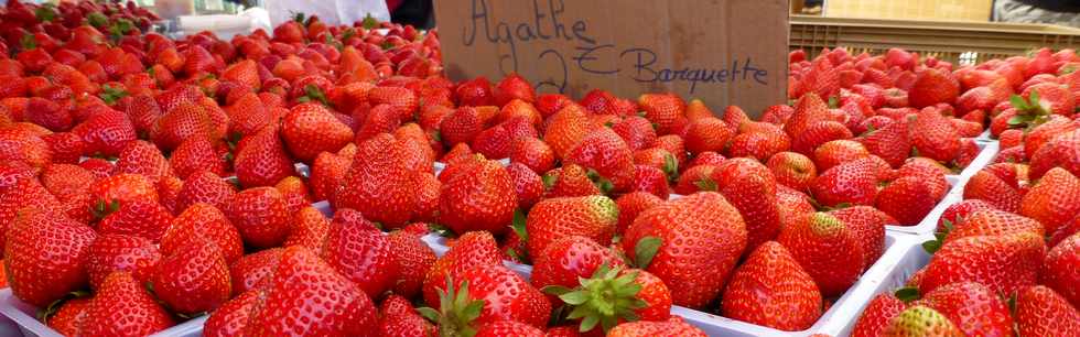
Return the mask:
<path id="1" fill-rule="evenodd" d="M 364 291 L 303 247 L 285 248 L 266 290 L 246 336 L 365 335 L 378 326 Z M 309 315 L 320 319 L 301 318 Z"/>

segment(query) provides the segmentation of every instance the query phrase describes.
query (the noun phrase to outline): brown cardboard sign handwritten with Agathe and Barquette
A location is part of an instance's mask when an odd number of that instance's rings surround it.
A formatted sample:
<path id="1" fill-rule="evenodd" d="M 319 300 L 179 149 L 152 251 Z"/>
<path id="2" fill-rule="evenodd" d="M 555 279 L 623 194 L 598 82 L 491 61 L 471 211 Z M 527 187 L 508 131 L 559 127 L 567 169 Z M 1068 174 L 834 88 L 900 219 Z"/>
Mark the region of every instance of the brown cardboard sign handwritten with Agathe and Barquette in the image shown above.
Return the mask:
<path id="1" fill-rule="evenodd" d="M 785 102 L 787 0 L 436 0 L 451 79 L 518 73 L 541 93 L 670 91 L 717 113 Z"/>

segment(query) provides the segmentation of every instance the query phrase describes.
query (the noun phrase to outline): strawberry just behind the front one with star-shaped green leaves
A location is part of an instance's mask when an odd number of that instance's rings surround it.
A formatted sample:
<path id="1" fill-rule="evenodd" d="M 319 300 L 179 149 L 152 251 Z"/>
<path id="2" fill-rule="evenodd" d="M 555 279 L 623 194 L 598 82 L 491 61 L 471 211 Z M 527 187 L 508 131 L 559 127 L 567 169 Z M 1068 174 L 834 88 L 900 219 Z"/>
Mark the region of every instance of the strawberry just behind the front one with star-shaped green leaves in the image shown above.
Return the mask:
<path id="1" fill-rule="evenodd" d="M 572 289 L 579 285 L 579 279 L 593 276 L 602 265 L 608 270 L 626 265 L 611 249 L 576 235 L 555 239 L 531 257 L 531 282 L 538 289 L 549 285 Z"/>

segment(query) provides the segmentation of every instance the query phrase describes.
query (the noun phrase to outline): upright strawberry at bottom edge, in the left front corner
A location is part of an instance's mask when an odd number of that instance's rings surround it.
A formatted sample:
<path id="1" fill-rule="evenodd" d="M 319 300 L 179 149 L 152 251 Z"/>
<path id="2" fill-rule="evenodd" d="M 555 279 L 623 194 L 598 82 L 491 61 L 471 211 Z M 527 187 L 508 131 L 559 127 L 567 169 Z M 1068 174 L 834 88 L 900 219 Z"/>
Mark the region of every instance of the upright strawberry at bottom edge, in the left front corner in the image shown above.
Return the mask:
<path id="1" fill-rule="evenodd" d="M 105 278 L 84 315 L 80 333 L 88 336 L 144 336 L 175 325 L 128 272 Z"/>

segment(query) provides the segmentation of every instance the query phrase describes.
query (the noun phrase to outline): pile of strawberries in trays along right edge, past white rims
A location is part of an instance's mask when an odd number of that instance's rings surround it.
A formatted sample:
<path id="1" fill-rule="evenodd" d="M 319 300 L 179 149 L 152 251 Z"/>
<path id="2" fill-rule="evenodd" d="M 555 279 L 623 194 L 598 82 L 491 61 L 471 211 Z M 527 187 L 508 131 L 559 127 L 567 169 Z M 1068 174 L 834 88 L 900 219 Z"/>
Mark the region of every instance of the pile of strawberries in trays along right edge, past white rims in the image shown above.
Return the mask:
<path id="1" fill-rule="evenodd" d="M 906 287 L 875 297 L 852 336 L 899 327 L 942 336 L 1080 335 L 1076 58 L 1040 50 L 961 75 L 982 84 L 961 102 L 976 91 L 1020 93 L 980 104 L 1001 152 L 966 182 L 964 200 L 946 208 L 936 238 L 924 243 L 929 264 Z"/>

